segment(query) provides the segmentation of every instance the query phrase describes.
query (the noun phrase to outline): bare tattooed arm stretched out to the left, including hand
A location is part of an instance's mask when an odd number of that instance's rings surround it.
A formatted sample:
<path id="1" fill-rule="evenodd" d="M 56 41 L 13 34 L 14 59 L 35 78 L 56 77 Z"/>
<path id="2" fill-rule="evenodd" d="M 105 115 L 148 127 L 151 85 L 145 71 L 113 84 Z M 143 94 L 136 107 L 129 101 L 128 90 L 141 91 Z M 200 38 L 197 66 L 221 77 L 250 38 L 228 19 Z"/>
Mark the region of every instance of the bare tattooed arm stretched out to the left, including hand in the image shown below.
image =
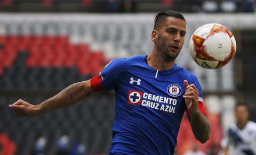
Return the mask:
<path id="1" fill-rule="evenodd" d="M 43 101 L 39 105 L 31 105 L 20 99 L 14 102 L 14 104 L 9 105 L 9 107 L 20 117 L 34 117 L 47 111 L 74 105 L 93 92 L 90 81 L 91 80 L 87 80 L 71 84 L 69 87 L 63 89 L 61 92 L 52 98 Z"/>

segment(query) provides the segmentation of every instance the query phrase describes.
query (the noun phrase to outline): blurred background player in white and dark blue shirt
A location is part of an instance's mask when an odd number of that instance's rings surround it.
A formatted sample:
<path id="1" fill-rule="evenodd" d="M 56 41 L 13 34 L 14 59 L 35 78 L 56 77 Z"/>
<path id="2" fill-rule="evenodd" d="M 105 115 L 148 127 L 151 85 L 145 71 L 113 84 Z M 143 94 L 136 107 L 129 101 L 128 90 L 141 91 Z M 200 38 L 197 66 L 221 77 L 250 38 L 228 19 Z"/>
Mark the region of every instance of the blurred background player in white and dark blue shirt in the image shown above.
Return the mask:
<path id="1" fill-rule="evenodd" d="M 239 155 L 256 154 L 256 123 L 248 120 L 249 111 L 245 104 L 235 106 L 236 124 L 229 127 L 221 141 L 223 153 Z"/>

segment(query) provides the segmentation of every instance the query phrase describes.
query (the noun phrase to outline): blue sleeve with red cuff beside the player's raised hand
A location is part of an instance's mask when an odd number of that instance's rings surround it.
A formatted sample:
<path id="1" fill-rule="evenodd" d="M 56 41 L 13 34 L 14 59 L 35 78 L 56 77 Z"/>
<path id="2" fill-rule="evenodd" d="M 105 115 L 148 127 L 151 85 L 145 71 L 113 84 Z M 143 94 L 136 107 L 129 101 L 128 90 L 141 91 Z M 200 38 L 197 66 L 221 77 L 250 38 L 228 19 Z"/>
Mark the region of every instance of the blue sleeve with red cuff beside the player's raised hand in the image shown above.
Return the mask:
<path id="1" fill-rule="evenodd" d="M 200 85 L 197 77 L 195 75 L 191 76 L 191 78 L 188 80 L 188 83 L 195 84 L 196 88 L 198 89 L 198 91 L 199 91 L 198 108 L 202 114 L 206 115 L 206 112 L 204 109 L 203 91 L 202 91 L 201 85 Z M 190 117 L 188 108 L 186 109 L 186 113 L 187 113 L 188 117 Z"/>

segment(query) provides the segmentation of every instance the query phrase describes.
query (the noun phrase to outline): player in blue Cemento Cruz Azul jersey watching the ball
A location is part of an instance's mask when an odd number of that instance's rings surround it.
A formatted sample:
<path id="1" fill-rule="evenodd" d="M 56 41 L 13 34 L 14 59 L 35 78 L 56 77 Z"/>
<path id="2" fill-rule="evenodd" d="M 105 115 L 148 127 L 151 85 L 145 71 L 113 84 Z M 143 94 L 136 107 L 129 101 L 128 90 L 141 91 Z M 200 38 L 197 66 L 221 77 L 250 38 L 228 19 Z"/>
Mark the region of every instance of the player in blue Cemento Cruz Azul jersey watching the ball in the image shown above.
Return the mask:
<path id="1" fill-rule="evenodd" d="M 186 35 L 182 14 L 156 14 L 149 56 L 113 59 L 99 75 L 70 85 L 39 105 L 18 100 L 18 116 L 37 116 L 70 106 L 94 91 L 115 90 L 116 110 L 110 154 L 174 154 L 186 111 L 197 140 L 210 137 L 201 86 L 194 74 L 175 64 Z"/>

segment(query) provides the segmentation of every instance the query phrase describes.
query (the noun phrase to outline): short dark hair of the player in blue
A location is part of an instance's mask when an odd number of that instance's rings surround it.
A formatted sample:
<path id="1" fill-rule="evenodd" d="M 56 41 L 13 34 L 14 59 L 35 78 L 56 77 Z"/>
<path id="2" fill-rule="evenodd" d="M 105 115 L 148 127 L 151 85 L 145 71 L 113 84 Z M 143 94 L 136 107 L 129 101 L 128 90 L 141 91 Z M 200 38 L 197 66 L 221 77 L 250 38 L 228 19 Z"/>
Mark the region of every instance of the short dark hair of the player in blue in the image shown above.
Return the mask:
<path id="1" fill-rule="evenodd" d="M 165 21 L 165 19 L 169 16 L 186 21 L 184 16 L 177 11 L 168 10 L 168 11 L 164 11 L 164 12 L 159 12 L 154 16 L 154 18 L 155 18 L 154 29 L 158 29 L 159 27 L 161 27 L 163 21 Z"/>

